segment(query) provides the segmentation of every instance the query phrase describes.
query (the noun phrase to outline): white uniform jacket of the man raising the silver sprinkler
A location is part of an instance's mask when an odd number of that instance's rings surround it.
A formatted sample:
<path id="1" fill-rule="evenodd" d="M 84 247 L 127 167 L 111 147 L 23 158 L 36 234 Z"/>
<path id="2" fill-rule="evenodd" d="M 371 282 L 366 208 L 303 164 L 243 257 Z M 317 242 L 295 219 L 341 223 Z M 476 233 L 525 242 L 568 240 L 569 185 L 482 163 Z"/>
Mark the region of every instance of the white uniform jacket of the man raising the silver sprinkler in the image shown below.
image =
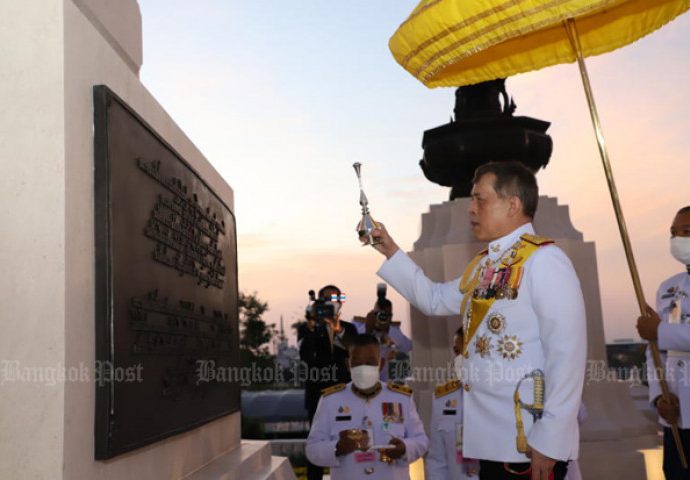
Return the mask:
<path id="1" fill-rule="evenodd" d="M 499 262 L 521 235 L 533 233 L 527 223 L 492 241 L 475 269 L 484 262 Z M 378 274 L 426 315 L 460 312 L 463 295 L 458 280 L 432 282 L 402 251 L 388 259 Z M 513 394 L 525 374 L 541 369 L 544 414 L 534 424 L 531 415 L 523 415 L 527 442 L 550 458 L 575 459 L 587 353 L 580 283 L 572 263 L 555 245 L 539 247 L 525 261 L 521 278 L 517 298 L 495 300 L 476 333 L 466 339 L 464 454 L 499 462 L 529 461 L 516 446 Z M 489 328 L 486 319 L 492 317 L 499 320 L 498 328 Z"/>

